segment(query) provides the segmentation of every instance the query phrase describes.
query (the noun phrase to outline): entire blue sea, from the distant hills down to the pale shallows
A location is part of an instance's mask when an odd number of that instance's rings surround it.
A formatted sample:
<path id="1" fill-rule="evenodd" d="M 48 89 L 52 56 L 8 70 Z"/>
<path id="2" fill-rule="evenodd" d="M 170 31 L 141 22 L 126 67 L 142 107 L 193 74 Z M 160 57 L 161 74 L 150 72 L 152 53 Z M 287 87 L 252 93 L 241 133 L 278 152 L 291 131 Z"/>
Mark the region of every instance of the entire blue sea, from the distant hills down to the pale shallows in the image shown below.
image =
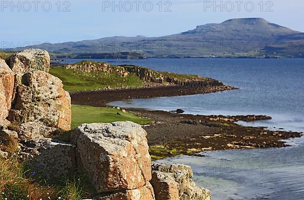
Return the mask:
<path id="1" fill-rule="evenodd" d="M 198 74 L 240 87 L 222 93 L 134 99 L 111 105 L 166 111 L 180 108 L 189 114 L 202 115 L 263 114 L 273 119 L 243 124 L 304 131 L 304 59 L 98 61 Z M 207 157 L 181 156 L 161 161 L 191 165 L 197 184 L 210 189 L 213 199 L 304 199 L 304 139 L 289 143 L 293 146 L 213 151 L 203 153 Z"/>

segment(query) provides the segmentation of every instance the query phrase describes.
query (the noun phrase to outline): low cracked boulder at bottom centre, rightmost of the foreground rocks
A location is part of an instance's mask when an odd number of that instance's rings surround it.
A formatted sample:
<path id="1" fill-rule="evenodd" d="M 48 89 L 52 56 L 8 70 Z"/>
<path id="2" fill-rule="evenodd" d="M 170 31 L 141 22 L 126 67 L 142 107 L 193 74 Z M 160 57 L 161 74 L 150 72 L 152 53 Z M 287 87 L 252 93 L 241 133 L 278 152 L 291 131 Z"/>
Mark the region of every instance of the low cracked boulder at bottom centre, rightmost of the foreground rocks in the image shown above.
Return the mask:
<path id="1" fill-rule="evenodd" d="M 210 191 L 197 187 L 192 178 L 190 166 L 154 163 L 150 183 L 154 188 L 156 200 L 210 200 Z"/>

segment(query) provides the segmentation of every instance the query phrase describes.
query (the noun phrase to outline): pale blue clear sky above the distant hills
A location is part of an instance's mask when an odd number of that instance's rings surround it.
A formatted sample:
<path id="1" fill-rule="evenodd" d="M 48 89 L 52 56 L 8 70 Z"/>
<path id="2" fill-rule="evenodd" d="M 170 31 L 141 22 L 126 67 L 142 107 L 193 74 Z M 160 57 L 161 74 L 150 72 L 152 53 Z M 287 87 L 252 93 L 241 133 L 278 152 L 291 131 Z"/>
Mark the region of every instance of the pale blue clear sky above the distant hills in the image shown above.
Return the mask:
<path id="1" fill-rule="evenodd" d="M 0 1 L 0 48 L 112 36 L 156 37 L 220 23 L 262 17 L 304 32 L 304 1 Z"/>

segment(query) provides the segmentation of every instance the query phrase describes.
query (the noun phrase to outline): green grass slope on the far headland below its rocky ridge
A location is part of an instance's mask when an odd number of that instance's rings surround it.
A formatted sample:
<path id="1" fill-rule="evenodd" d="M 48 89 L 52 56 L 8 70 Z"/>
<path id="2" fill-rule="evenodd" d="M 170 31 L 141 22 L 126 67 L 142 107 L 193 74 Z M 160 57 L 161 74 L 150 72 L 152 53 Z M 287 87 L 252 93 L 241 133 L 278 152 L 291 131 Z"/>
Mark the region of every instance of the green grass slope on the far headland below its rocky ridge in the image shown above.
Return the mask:
<path id="1" fill-rule="evenodd" d="M 78 72 L 64 67 L 51 68 L 50 74 L 61 79 L 63 88 L 68 91 L 143 86 L 143 82 L 134 74 L 121 77 L 117 73 Z"/>

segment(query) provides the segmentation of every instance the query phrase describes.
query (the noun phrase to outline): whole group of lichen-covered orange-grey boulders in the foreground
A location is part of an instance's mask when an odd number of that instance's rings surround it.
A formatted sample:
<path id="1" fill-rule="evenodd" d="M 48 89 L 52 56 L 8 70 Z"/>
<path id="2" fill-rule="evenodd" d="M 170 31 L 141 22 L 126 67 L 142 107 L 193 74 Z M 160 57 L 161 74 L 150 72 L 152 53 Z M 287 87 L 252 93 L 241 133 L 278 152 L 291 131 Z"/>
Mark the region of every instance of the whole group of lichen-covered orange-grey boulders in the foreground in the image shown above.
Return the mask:
<path id="1" fill-rule="evenodd" d="M 151 164 L 147 132 L 139 124 L 93 123 L 70 130 L 71 98 L 61 80 L 48 73 L 48 52 L 24 50 L 8 64 L 0 59 L 0 159 L 18 155 L 10 163 L 25 162 L 28 181 L 37 176 L 50 187 L 79 171 L 87 177 L 85 197 L 90 199 L 211 199 L 209 190 L 193 182 L 189 166 Z M 62 135 L 66 140 L 60 140 Z M 1 196 L 61 199 L 56 193 L 18 193 L 12 186 L 19 181 L 0 173 L 8 181 L 0 187 Z"/>

